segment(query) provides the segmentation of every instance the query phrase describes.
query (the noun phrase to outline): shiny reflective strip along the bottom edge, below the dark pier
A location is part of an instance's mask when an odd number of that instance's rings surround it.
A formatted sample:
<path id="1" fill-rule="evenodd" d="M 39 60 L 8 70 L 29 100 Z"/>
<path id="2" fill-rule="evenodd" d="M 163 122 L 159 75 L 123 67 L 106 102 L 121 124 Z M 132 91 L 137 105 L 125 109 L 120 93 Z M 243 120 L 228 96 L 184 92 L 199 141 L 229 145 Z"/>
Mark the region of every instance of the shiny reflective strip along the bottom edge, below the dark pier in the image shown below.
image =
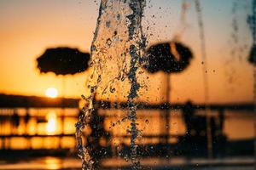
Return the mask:
<path id="1" fill-rule="evenodd" d="M 253 159 L 249 157 L 231 157 L 228 159 L 206 160 L 173 158 L 165 159 L 149 158 L 143 159 L 143 167 L 146 169 L 169 169 L 169 170 L 253 170 Z M 107 159 L 102 162 L 102 169 L 130 169 L 129 163 L 117 158 Z M 209 166 L 209 164 L 211 166 Z M 79 158 L 72 157 L 40 157 L 29 160 L 0 161 L 0 170 L 57 170 L 57 169 L 81 169 Z"/>

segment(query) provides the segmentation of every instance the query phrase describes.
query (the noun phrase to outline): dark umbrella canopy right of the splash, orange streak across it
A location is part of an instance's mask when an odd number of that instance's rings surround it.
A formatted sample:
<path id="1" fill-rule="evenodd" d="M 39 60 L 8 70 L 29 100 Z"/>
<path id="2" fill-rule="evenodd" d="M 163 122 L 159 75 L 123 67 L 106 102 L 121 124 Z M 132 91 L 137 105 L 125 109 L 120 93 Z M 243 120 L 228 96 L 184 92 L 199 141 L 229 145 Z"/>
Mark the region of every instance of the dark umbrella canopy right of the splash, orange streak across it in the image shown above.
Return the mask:
<path id="1" fill-rule="evenodd" d="M 158 43 L 148 48 L 147 53 L 148 65 L 144 65 L 144 68 L 150 73 L 181 72 L 193 58 L 191 50 L 181 42 Z"/>

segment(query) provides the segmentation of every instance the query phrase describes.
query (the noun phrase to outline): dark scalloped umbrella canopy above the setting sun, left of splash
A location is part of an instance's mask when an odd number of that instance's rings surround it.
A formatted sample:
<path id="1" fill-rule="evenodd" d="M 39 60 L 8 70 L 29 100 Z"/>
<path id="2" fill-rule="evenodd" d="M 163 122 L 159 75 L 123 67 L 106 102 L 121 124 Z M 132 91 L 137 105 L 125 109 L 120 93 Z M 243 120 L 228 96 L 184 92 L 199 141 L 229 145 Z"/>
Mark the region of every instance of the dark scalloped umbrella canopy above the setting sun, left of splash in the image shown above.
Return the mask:
<path id="1" fill-rule="evenodd" d="M 90 54 L 77 48 L 47 48 L 38 57 L 38 69 L 41 73 L 54 72 L 55 75 L 68 75 L 83 72 L 88 68 Z"/>

